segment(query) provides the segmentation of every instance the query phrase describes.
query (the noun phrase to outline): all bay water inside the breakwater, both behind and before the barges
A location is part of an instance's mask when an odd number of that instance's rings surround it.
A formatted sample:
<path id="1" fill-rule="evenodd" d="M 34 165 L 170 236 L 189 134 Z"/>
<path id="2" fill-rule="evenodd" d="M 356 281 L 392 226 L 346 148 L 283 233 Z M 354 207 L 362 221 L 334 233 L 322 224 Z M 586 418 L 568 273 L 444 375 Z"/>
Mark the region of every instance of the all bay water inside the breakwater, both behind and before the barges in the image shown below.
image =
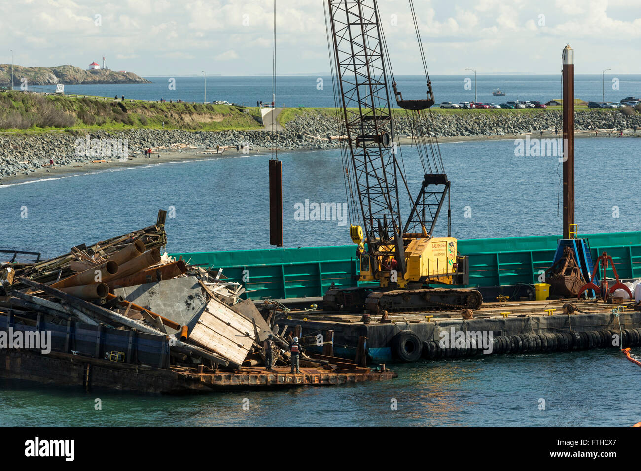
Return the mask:
<path id="1" fill-rule="evenodd" d="M 442 145 L 458 238 L 558 234 L 558 159 L 514 142 Z M 410 186 L 420 165 L 404 147 Z M 294 219 L 294 205 L 346 202 L 338 151 L 280 154 L 285 245 L 349 244 L 340 221 Z M 265 156 L 165 163 L 0 186 L 0 248 L 67 252 L 167 219 L 169 251 L 269 247 Z M 638 141 L 576 141 L 579 231 L 641 230 Z M 619 217 L 613 217 L 613 208 Z M 471 217 L 465 217 L 465 208 Z M 26 217 L 21 217 L 26 215 Z M 444 231 L 441 224 L 436 233 Z M 641 356 L 641 350 L 633 352 Z M 392 365 L 399 378 L 336 388 L 151 396 L 0 382 L 0 426 L 629 426 L 641 370 L 616 350 L 481 356 Z M 102 410 L 94 409 L 95 399 Z M 242 408 L 249 400 L 249 409 Z M 545 409 L 540 409 L 545 401 Z M 390 405 L 397 404 L 393 410 Z"/>

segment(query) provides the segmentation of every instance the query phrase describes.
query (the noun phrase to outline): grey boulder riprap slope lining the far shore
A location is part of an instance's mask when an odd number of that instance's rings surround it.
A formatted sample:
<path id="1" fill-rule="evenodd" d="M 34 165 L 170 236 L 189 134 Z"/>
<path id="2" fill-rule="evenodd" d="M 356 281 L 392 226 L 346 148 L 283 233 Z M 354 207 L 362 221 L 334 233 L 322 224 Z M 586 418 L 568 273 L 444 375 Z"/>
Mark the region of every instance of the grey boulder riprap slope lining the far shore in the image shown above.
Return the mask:
<path id="1" fill-rule="evenodd" d="M 522 133 L 536 133 L 542 129 L 553 131 L 562 128 L 561 113 L 547 111 L 541 113 L 432 113 L 433 123 L 422 122 L 419 129 L 412 129 L 407 117 L 396 120 L 397 135 L 401 138 L 417 133 L 431 133 L 440 138 L 518 136 Z M 641 135 L 641 114 L 629 117 L 620 112 L 576 113 L 576 129 L 594 131 L 595 129 L 633 129 Z M 0 133 L 0 179 L 26 175 L 37 169 L 47 167 L 49 160 L 54 165 L 70 165 L 117 156 L 103 156 L 80 147 L 80 141 L 99 140 L 100 142 L 126 143 L 129 153 L 142 155 L 144 149 L 169 149 L 172 144 L 186 144 L 198 149 L 215 149 L 217 146 L 248 145 L 251 149 L 269 148 L 276 145 L 279 149 L 331 149 L 338 145 L 329 136 L 340 134 L 334 117 L 323 113 L 301 113 L 287 122 L 284 131 L 183 131 L 180 129 L 129 129 L 111 133 L 92 131 L 83 133 Z M 165 150 L 161 150 L 165 152 Z"/>

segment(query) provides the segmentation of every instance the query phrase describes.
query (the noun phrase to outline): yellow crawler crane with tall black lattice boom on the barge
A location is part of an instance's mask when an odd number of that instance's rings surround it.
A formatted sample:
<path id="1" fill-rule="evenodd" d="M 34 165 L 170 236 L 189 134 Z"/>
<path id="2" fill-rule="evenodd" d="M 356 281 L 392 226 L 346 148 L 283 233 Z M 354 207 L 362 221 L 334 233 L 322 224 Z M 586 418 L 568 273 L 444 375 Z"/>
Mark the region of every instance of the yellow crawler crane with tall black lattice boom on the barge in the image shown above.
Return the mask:
<path id="1" fill-rule="evenodd" d="M 450 182 L 438 142 L 429 131 L 421 131 L 431 124 L 427 113 L 434 94 L 412 0 L 409 3 L 426 76 L 426 99 L 405 100 L 398 91 L 376 0 L 327 0 L 328 33 L 333 38 L 332 83 L 342 105 L 340 134 L 347 136 L 341 149 L 345 186 L 352 197 L 350 217 L 360 220 L 350 229 L 358 245 L 358 281 L 378 281 L 379 286 L 332 288 L 323 299 L 326 310 L 478 309 L 483 302 L 478 290 L 428 286 L 469 284 L 469 263 L 458 254 L 456 238 L 451 237 Z M 392 93 L 410 119 L 424 170 L 415 199 L 404 176 L 401 148 L 395 142 Z M 401 199 L 405 197 L 410 201 L 410 214 L 403 222 Z M 433 237 L 446 198 L 448 236 Z"/>

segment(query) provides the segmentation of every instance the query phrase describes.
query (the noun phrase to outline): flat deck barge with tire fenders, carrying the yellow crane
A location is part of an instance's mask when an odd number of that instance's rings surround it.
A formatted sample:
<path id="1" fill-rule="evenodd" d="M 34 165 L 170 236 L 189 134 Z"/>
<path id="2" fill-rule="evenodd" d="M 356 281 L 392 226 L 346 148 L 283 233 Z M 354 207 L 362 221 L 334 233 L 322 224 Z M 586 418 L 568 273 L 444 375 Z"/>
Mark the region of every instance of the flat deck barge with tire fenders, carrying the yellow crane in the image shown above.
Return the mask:
<path id="1" fill-rule="evenodd" d="M 469 345 L 463 349 L 440 347 L 445 335 L 458 332 L 491 334 L 494 343 L 491 351 L 487 352 L 490 354 L 598 347 L 620 349 L 641 345 L 640 311 L 613 313 L 613 310 L 619 310 L 617 305 L 574 300 L 572 304 L 582 313 L 564 315 L 563 304 L 567 302 L 493 302 L 475 311 L 474 318 L 470 320 L 463 319 L 458 311 L 434 311 L 390 315 L 392 322 L 385 324 L 381 324 L 380 316 L 376 315 L 372 315 L 369 324 L 365 324 L 362 313 L 292 310 L 287 313 L 288 318 L 279 319 L 276 324 L 281 329 L 288 326 L 289 331 L 299 329 L 301 336 L 324 335 L 331 330 L 333 352 L 344 358 L 354 358 L 360 338 L 365 337 L 370 363 L 403 360 L 395 354 L 397 339 L 402 331 L 411 331 L 419 338 L 420 356 L 424 359 L 482 353 L 482 349 L 470 349 Z M 318 352 L 322 350 L 322 347 L 308 348 Z"/>

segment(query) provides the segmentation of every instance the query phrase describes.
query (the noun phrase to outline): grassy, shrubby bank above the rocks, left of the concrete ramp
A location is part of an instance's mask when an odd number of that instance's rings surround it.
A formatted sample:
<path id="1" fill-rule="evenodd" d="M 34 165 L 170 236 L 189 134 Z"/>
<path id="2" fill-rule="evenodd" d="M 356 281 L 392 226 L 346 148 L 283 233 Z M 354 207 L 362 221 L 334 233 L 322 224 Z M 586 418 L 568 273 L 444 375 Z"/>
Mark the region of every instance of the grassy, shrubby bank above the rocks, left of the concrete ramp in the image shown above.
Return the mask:
<path id="1" fill-rule="evenodd" d="M 133 128 L 199 131 L 246 130 L 262 126 L 257 108 L 192 103 L 121 101 L 104 97 L 0 93 L 0 129 L 40 133 L 61 130 L 123 131 Z"/>

